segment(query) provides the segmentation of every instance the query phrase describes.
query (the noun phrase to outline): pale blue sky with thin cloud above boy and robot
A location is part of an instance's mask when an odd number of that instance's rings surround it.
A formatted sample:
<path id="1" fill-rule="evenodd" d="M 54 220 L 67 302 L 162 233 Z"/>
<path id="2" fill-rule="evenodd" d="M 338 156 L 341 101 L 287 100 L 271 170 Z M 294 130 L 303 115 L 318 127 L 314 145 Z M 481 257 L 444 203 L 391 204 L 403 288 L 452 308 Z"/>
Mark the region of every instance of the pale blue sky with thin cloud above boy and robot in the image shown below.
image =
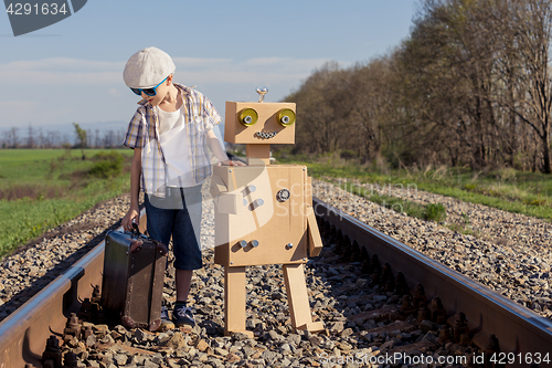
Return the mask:
<path id="1" fill-rule="evenodd" d="M 174 82 L 225 101 L 282 101 L 316 69 L 368 62 L 408 36 L 415 0 L 89 0 L 71 17 L 13 36 L 0 14 L 0 134 L 107 123 L 126 129 L 139 97 L 123 81 L 127 60 L 156 46 Z M 299 122 L 298 122 L 299 123 Z M 2 136 L 0 135 L 0 139 Z"/>

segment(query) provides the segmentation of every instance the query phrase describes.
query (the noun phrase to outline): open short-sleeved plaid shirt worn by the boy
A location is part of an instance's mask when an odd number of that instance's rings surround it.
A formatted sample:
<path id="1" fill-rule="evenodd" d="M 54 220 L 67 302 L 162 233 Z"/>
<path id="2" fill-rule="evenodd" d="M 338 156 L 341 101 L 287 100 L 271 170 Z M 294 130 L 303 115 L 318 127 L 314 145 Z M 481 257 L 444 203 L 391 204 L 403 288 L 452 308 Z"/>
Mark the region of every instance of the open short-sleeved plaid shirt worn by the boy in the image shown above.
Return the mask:
<path id="1" fill-rule="evenodd" d="M 180 84 L 173 84 L 182 94 L 184 125 L 188 134 L 193 180 L 202 183 L 212 174 L 211 159 L 205 143 L 205 134 L 221 123 L 213 104 L 201 93 Z M 164 155 L 159 137 L 158 108 L 146 99 L 138 103 L 123 145 L 129 148 L 141 148 L 141 185 L 148 194 L 164 198 L 166 170 Z"/>

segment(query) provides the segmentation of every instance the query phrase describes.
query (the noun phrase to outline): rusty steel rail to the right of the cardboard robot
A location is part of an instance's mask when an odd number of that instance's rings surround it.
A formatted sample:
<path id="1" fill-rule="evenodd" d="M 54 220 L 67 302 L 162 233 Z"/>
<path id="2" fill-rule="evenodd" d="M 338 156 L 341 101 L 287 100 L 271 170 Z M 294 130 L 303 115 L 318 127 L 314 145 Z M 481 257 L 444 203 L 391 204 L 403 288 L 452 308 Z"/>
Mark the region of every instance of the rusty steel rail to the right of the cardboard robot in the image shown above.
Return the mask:
<path id="1" fill-rule="evenodd" d="M 425 256 L 395 239 L 370 228 L 346 212 L 314 199 L 315 213 L 321 217 L 351 241 L 365 246 L 370 254 L 378 254 L 380 262 L 392 270 L 402 271 L 411 290 L 422 284 L 426 296 L 440 297 L 448 315 L 463 312 L 468 326 L 476 332 L 475 343 L 481 348 L 490 335 L 498 337 L 500 350 L 524 357 L 539 353 L 549 354 L 552 360 L 552 322 L 531 309 L 496 293 L 495 291 Z M 527 359 L 529 360 L 529 359 Z M 511 365 L 529 367 L 530 364 Z M 546 366 L 540 364 L 539 366 Z"/>

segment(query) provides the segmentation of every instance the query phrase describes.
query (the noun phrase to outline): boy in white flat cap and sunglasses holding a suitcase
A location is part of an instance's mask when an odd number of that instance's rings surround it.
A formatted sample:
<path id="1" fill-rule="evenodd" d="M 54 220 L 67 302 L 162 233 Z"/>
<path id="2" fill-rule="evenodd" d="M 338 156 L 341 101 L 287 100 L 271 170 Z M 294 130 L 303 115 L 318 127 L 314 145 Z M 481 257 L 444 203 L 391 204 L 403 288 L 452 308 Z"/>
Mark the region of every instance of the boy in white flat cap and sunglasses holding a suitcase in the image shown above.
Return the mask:
<path id="1" fill-rule="evenodd" d="M 176 326 L 195 324 L 185 302 L 193 270 L 201 269 L 201 186 L 212 174 L 206 148 L 219 165 L 231 161 L 213 133 L 222 117 L 201 93 L 172 83 L 176 66 L 156 48 L 138 51 L 128 60 L 123 77 L 142 97 L 123 145 L 134 149 L 130 171 L 130 208 L 123 227 L 139 221 L 138 196 L 145 192 L 148 234 L 164 244 L 172 235 L 177 303 Z M 163 325 L 170 324 L 161 308 Z"/>

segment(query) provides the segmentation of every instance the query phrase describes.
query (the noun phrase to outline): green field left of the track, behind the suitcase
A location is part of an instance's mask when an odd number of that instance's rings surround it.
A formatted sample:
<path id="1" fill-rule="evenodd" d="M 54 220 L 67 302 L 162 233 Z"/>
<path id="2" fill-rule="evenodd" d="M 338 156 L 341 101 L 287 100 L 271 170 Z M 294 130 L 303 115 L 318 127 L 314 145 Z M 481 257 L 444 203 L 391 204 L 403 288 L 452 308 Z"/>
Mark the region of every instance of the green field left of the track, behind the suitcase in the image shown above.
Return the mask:
<path id="1" fill-rule="evenodd" d="M 129 191 L 132 151 L 0 150 L 0 256 Z"/>

